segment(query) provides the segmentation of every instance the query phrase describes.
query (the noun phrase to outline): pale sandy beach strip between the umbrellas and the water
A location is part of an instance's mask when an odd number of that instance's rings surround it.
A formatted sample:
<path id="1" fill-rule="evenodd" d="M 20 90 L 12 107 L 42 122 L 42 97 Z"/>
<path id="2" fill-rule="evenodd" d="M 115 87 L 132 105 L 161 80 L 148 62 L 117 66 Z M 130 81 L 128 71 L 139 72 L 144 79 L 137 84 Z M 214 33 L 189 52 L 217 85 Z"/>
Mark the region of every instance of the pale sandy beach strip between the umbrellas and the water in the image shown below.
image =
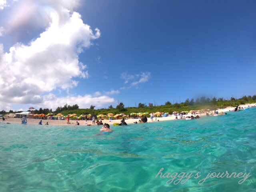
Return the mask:
<path id="1" fill-rule="evenodd" d="M 240 105 L 240 107 L 246 107 L 246 106 L 248 107 L 248 105 L 252 106 L 255 104 L 244 104 L 244 105 Z M 218 111 L 220 114 L 221 112 L 229 112 L 231 110 L 234 110 L 234 107 L 218 109 L 216 111 Z M 191 113 L 188 113 L 187 115 L 184 115 L 184 116 L 191 116 L 191 115 L 192 115 Z M 202 117 L 202 116 L 206 116 L 206 113 L 196 114 L 196 115 L 199 115 L 200 117 Z M 170 116 L 170 117 L 157 117 L 157 120 L 159 120 L 159 121 L 156 121 L 155 118 L 153 118 L 154 121 L 151 121 L 150 118 L 148 118 L 148 123 L 175 120 L 175 117 L 176 117 L 175 115 Z M 135 122 L 135 121 L 138 122 L 139 120 L 140 119 L 127 119 L 127 120 L 125 120 L 125 122 L 127 124 L 133 124 L 133 122 Z M 178 120 L 180 120 L 180 116 L 178 116 Z M 39 119 L 28 118 L 28 124 L 38 125 L 39 121 L 40 121 Z M 46 124 L 46 122 L 48 122 L 49 126 L 51 126 L 51 125 L 74 126 L 74 125 L 76 125 L 76 121 L 78 121 L 80 123 L 80 126 L 87 126 L 88 124 L 92 125 L 92 121 L 86 121 L 86 120 L 70 120 L 70 124 L 67 124 L 66 120 L 42 120 L 42 124 L 44 125 L 44 124 Z M 118 119 L 118 120 L 102 120 L 103 123 L 108 123 L 110 125 L 113 125 L 114 123 L 120 123 L 120 121 L 121 121 L 120 119 Z M 20 118 L 5 118 L 5 121 L 1 121 L 1 122 L 10 123 L 10 124 L 21 124 L 21 119 Z M 95 126 L 95 125 L 92 125 L 92 126 Z"/>

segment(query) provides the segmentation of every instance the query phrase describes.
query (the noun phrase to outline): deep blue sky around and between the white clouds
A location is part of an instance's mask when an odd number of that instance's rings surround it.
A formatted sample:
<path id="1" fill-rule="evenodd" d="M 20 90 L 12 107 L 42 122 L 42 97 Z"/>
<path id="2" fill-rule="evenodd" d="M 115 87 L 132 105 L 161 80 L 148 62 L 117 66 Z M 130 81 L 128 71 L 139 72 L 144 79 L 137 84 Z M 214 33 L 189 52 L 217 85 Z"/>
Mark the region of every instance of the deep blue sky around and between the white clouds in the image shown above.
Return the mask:
<path id="1" fill-rule="evenodd" d="M 10 9 L 0 11 L 0 17 Z M 41 96 L 93 96 L 115 90 L 109 94 L 114 101 L 98 106 L 107 108 L 118 101 L 125 106 L 154 101 L 160 105 L 202 95 L 256 94 L 255 1 L 88 0 L 74 11 L 101 33 L 78 54 L 88 78 L 74 76 L 77 86 L 68 91 L 56 87 Z M 37 38 L 45 26 L 29 24 L 30 32 L 22 29 L 0 37 L 5 52 L 16 42 L 27 44 Z M 138 82 L 143 73 L 147 79 Z M 128 83 L 121 74 L 131 78 Z M 138 83 L 131 86 L 132 82 Z M 16 102 L 10 107 L 31 104 Z"/>

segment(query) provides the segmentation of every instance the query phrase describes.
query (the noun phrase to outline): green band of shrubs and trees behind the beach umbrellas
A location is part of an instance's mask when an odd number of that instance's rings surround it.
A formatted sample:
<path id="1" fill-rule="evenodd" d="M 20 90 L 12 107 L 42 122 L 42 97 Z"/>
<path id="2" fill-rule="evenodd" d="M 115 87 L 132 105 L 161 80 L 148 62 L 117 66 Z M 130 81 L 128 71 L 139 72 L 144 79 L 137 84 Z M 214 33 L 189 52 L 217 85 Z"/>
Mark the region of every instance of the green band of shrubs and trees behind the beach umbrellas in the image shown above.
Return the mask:
<path id="1" fill-rule="evenodd" d="M 240 99 L 235 99 L 233 97 L 230 98 L 230 100 L 224 100 L 224 98 L 197 98 L 196 101 L 194 99 L 186 99 L 185 102 L 182 103 L 174 103 L 171 104 L 170 101 L 167 101 L 165 105 L 160 105 L 160 106 L 146 106 L 146 104 L 139 103 L 138 107 L 128 107 L 126 108 L 122 102 L 120 102 L 116 108 L 113 108 L 112 105 L 108 107 L 108 109 L 94 109 L 94 106 L 91 105 L 89 109 L 79 109 L 79 106 L 77 104 L 70 106 L 68 104 L 64 105 L 64 107 L 60 106 L 56 108 L 55 111 L 52 111 L 52 109 L 42 109 L 40 108 L 39 110 L 34 110 L 34 114 L 48 114 L 49 112 L 52 112 L 54 114 L 57 113 L 62 113 L 62 114 L 73 114 L 76 113 L 78 115 L 80 114 L 108 114 L 108 113 L 113 113 L 113 114 L 120 114 L 120 113 L 125 113 L 125 114 L 130 114 L 132 112 L 138 113 L 138 112 L 168 112 L 172 113 L 174 111 L 190 111 L 190 110 L 200 110 L 200 109 L 218 109 L 218 108 L 226 108 L 228 106 L 233 106 L 235 107 L 236 105 L 240 104 L 246 104 L 246 103 L 255 103 L 256 102 L 256 95 L 254 96 L 243 96 Z M 12 112 L 12 111 L 10 111 Z M 7 112 L 2 110 L 0 111 L 0 114 L 6 114 Z"/>

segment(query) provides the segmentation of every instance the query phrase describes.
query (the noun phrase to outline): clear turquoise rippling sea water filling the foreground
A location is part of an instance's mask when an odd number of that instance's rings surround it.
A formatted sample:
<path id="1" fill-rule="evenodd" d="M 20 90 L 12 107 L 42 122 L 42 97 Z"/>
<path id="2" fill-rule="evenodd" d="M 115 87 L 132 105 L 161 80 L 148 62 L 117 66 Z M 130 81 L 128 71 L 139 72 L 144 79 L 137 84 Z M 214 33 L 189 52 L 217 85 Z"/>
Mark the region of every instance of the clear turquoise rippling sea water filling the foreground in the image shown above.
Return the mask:
<path id="1" fill-rule="evenodd" d="M 256 108 L 198 120 L 112 126 L 0 123 L 0 191 L 252 192 L 256 191 Z M 200 172 L 185 184 L 155 178 Z M 209 172 L 243 172 L 208 178 Z"/>

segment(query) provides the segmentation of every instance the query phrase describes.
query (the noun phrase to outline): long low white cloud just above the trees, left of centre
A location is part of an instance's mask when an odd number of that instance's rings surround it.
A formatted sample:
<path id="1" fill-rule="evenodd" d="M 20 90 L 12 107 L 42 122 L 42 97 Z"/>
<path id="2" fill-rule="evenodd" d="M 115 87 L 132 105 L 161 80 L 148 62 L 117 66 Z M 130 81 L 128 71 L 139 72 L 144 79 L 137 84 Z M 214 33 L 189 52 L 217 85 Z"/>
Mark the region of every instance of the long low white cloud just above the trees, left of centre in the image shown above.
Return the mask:
<path id="1" fill-rule="evenodd" d="M 92 96 L 92 95 L 78 95 L 56 97 L 54 94 L 48 94 L 41 97 L 41 102 L 38 102 L 38 107 L 52 108 L 55 110 L 58 106 L 64 106 L 66 103 L 69 105 L 78 104 L 79 108 L 90 108 L 91 105 L 97 108 L 103 107 L 105 104 L 115 102 L 114 98 L 108 96 Z"/>

